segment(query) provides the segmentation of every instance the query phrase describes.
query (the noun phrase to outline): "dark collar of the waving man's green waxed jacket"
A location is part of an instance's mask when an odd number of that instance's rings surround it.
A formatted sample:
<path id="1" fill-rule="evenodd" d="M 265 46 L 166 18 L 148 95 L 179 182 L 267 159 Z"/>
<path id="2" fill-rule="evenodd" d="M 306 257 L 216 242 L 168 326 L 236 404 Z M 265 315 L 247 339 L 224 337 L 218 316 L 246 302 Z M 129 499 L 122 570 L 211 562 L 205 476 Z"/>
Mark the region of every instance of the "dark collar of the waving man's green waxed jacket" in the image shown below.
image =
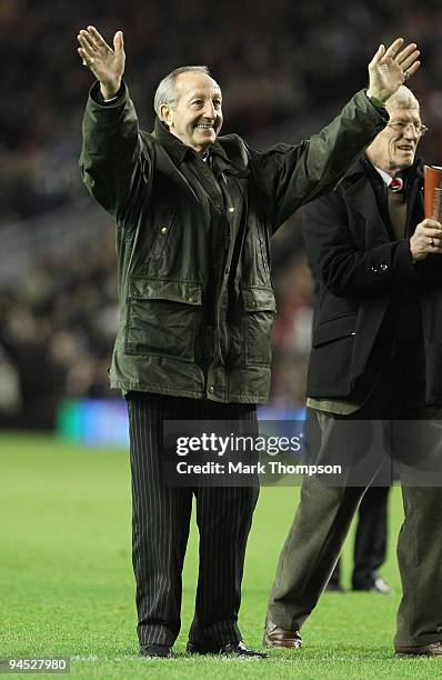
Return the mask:
<path id="1" fill-rule="evenodd" d="M 169 132 L 168 127 L 158 117 L 155 118 L 152 134 L 158 139 L 161 146 L 165 148 L 174 163 L 180 164 L 187 159 L 197 157 L 197 152 L 191 147 L 184 144 L 178 137 Z M 221 140 L 225 139 L 227 138 L 221 138 Z M 213 142 L 209 152 L 213 157 L 219 171 L 223 172 L 227 170 L 239 177 L 249 174 L 249 169 L 241 163 L 240 159 L 232 160 L 219 140 Z"/>

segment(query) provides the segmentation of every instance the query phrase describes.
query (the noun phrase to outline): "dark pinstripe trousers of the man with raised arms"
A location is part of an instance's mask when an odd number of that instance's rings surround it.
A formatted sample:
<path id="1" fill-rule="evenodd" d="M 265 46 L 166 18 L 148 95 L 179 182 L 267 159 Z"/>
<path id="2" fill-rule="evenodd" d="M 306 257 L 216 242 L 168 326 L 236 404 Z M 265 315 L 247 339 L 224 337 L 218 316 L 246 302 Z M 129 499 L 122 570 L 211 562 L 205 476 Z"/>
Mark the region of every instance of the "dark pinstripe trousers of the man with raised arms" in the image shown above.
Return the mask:
<path id="1" fill-rule="evenodd" d="M 200 533 L 199 577 L 191 642 L 241 640 L 238 611 L 255 487 L 171 487 L 162 476 L 165 420 L 234 420 L 258 432 L 254 404 L 180 397 L 128 398 L 132 473 L 132 562 L 140 644 L 173 644 L 181 626 L 181 573 L 192 496 Z"/>

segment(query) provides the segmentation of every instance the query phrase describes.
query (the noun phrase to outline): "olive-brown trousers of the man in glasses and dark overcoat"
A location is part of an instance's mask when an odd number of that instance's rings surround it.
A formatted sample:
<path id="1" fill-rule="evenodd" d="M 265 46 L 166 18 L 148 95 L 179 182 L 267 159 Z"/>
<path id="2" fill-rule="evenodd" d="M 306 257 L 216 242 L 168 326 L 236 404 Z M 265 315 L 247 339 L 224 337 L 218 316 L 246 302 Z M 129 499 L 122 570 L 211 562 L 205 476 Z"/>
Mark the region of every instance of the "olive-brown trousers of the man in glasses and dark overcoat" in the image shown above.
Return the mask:
<path id="1" fill-rule="evenodd" d="M 420 376 L 413 376 L 416 367 L 415 351 L 398 351 L 383 371 L 370 400 L 358 411 L 358 418 L 403 419 L 410 423 L 410 436 L 403 437 L 401 428 L 391 437 L 391 422 L 380 422 L 385 439 L 401 446 L 394 454 L 415 454 L 418 461 L 426 457 L 416 423 L 420 419 L 440 418 L 440 410 L 418 408 L 411 401 L 414 384 Z M 405 400 L 405 401 L 404 401 Z M 368 438 L 346 437 L 343 424 L 355 419 L 332 417 L 317 412 L 322 432 L 319 462 L 330 463 L 338 450 L 350 463 L 345 476 L 338 484 L 328 484 L 319 477 L 307 477 L 301 489 L 301 500 L 293 524 L 282 549 L 277 577 L 270 594 L 268 619 L 289 630 L 298 630 L 315 607 L 335 567 L 354 513 L 370 482 L 379 473 L 385 460 L 381 456 L 370 457 L 364 451 Z M 399 423 L 401 424 L 401 423 Z M 422 432 L 431 426 L 423 421 Z M 358 432 L 358 430 L 356 430 Z M 359 430 L 361 433 L 361 430 Z M 389 437 L 386 437 L 389 436 Z M 440 434 L 436 432 L 439 440 Z M 410 448 L 410 441 L 412 447 Z M 334 444 L 334 448 L 333 448 Z M 379 451 L 379 447 L 375 449 Z M 438 447 L 436 458 L 441 458 Z M 358 461 L 365 457 L 366 483 L 354 479 Z M 351 464 L 352 461 L 354 464 Z M 441 469 L 435 460 L 434 469 Z M 442 639 L 442 541 L 440 517 L 442 516 L 442 489 L 440 486 L 416 486 L 419 470 L 399 466 L 404 502 L 404 523 L 398 542 L 398 560 L 401 572 L 403 597 L 398 611 L 395 643 L 399 646 L 424 646 Z M 388 477 L 388 476 L 386 476 Z M 426 478 L 425 478 L 426 479 Z M 386 480 L 385 480 L 386 481 Z M 440 484 L 440 481 L 439 481 Z"/>

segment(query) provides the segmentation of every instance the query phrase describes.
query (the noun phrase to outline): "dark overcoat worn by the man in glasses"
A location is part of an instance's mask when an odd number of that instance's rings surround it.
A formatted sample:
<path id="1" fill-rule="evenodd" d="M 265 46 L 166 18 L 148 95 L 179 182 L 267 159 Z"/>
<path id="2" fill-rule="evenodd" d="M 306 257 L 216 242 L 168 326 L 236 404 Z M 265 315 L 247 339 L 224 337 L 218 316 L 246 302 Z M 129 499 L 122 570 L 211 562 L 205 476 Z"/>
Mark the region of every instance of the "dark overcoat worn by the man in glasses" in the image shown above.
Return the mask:
<path id="1" fill-rule="evenodd" d="M 426 402 L 442 398 L 442 257 L 413 262 L 410 237 L 423 219 L 423 168 L 416 160 L 408 177 L 404 238 L 389 229 L 373 184 L 375 172 L 360 159 L 331 193 L 304 208 L 305 248 L 319 286 L 307 396 L 352 396 L 395 304 L 418 299 L 425 348 Z M 382 338 L 376 362 L 394 339 Z M 404 370 L 406 367 L 404 367 Z"/>

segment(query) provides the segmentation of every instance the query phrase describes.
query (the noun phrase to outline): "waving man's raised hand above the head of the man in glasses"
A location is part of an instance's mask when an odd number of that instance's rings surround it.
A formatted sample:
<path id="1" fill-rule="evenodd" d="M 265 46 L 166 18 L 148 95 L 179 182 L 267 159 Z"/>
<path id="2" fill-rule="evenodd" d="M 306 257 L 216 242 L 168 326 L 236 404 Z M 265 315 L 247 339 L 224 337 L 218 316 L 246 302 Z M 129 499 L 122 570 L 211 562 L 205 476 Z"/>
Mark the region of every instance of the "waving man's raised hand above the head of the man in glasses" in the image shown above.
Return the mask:
<path id="1" fill-rule="evenodd" d="M 402 38 L 396 38 L 388 50 L 381 44 L 369 63 L 368 93 L 380 101 L 385 102 L 421 66 L 416 44 L 411 42 L 401 49 L 402 46 Z"/>

